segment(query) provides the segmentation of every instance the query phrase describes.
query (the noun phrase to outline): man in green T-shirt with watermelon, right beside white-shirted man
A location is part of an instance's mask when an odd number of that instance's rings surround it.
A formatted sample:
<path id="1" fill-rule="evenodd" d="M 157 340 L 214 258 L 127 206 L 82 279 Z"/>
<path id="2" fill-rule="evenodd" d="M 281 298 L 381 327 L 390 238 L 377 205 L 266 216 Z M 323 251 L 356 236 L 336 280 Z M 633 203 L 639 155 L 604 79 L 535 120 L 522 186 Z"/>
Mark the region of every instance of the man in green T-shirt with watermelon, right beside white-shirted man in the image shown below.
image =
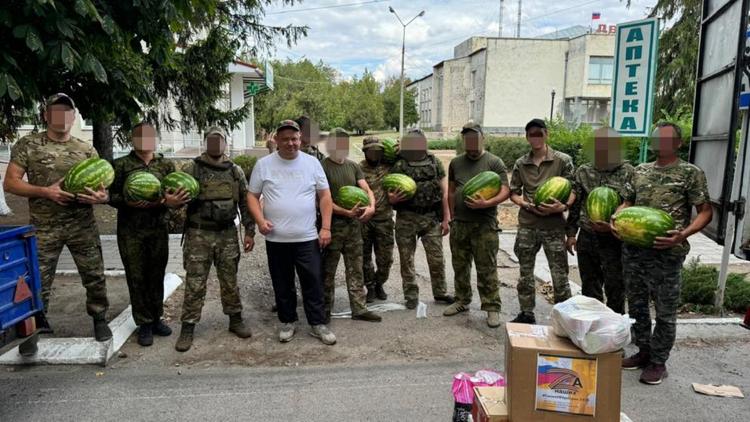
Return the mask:
<path id="1" fill-rule="evenodd" d="M 331 243 L 323 256 L 323 277 L 325 289 L 326 318 L 330 320 L 336 296 L 336 269 L 341 256 L 344 256 L 346 287 L 349 292 L 349 306 L 352 319 L 380 322 L 380 315 L 367 310 L 364 276 L 362 274 L 362 222 L 367 222 L 375 213 L 375 197 L 365 181 L 362 169 L 354 161 L 348 160 L 349 134 L 343 129 L 333 129 L 329 135 L 328 152 L 330 157 L 321 161 L 328 178 L 333 197 L 344 186 L 357 186 L 367 192 L 370 205 L 355 206 L 351 210 L 333 203 L 331 218 Z"/>

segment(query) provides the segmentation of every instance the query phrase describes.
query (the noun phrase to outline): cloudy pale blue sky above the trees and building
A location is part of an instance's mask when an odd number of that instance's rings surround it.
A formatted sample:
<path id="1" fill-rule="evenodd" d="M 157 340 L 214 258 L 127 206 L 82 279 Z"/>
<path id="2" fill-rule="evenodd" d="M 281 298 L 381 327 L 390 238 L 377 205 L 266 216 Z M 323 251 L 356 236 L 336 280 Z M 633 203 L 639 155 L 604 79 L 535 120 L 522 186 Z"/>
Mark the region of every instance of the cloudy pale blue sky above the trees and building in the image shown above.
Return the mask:
<path id="1" fill-rule="evenodd" d="M 614 25 L 646 17 L 657 0 L 524 0 L 521 36 L 535 37 L 573 25 Z M 505 0 L 503 36 L 515 36 L 518 0 Z M 292 7 L 276 4 L 266 10 L 268 25 L 307 25 L 308 36 L 292 48 L 277 43 L 277 59 L 318 60 L 338 69 L 342 79 L 365 69 L 383 81 L 401 72 L 403 27 L 388 11 L 393 7 L 404 23 L 420 11 L 406 29 L 406 76 L 419 79 L 432 66 L 453 57 L 453 47 L 471 36 L 497 36 L 499 0 L 306 0 Z"/>

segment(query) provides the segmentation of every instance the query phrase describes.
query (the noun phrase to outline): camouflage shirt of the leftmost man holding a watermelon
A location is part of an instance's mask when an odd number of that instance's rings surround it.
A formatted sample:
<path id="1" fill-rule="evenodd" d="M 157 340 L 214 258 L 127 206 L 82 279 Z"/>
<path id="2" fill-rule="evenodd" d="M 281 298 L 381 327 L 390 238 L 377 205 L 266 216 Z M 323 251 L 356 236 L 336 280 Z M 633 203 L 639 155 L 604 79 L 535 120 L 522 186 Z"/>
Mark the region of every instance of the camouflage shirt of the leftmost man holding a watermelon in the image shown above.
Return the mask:
<path id="1" fill-rule="evenodd" d="M 66 142 L 49 139 L 46 132 L 26 135 L 11 149 L 10 162 L 24 169 L 30 184 L 50 186 L 80 161 L 98 157 L 93 145 L 71 136 Z M 64 188 L 64 187 L 63 187 Z M 46 198 L 29 198 L 31 224 L 51 225 L 62 221 L 89 221 L 91 205 L 77 202 L 59 205 Z"/>

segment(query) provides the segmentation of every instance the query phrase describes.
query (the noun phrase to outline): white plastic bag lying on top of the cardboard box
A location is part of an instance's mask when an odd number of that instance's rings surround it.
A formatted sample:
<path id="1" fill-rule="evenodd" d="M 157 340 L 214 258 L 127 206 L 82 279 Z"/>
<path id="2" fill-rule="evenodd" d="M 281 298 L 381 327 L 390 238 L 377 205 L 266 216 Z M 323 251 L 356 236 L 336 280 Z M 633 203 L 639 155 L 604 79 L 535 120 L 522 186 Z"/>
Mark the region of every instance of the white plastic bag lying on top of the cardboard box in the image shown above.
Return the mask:
<path id="1" fill-rule="evenodd" d="M 620 350 L 630 343 L 630 317 L 586 296 L 573 296 L 552 308 L 552 327 L 584 352 L 595 355 Z"/>

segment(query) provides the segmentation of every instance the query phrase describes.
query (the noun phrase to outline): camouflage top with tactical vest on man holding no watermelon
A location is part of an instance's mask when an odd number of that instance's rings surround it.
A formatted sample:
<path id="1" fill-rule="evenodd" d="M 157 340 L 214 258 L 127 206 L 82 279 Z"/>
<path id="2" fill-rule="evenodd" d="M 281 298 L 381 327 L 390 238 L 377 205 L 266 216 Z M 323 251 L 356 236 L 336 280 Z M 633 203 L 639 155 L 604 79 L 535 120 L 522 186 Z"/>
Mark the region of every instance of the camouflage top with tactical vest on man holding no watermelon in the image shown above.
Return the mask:
<path id="1" fill-rule="evenodd" d="M 239 209 L 240 223 L 255 232 L 255 222 L 247 207 L 247 179 L 242 169 L 229 157 L 216 164 L 207 154 L 195 158 L 182 169 L 200 185 L 198 198 L 188 204 L 187 227 L 209 230 L 234 224 Z"/>

